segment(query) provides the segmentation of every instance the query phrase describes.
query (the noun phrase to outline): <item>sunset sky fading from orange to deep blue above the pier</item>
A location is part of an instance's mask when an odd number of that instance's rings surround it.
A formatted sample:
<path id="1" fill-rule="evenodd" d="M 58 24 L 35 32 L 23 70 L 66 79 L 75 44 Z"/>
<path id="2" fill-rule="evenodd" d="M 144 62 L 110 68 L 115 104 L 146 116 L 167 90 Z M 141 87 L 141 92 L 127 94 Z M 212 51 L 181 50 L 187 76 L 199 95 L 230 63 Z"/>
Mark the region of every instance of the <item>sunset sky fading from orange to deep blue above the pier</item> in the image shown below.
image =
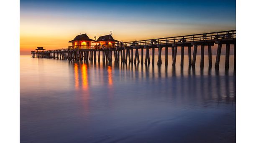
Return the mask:
<path id="1" fill-rule="evenodd" d="M 236 29 L 236 0 L 20 0 L 20 54 L 80 33 L 124 42 Z"/>

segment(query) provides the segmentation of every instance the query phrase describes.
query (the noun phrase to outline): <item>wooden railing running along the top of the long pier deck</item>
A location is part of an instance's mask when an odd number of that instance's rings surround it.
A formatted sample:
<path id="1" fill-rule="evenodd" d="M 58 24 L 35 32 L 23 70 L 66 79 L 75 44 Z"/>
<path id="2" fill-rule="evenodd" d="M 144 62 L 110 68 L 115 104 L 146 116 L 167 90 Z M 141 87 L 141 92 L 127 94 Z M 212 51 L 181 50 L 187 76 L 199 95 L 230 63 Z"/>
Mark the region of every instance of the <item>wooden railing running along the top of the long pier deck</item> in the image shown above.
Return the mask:
<path id="1" fill-rule="evenodd" d="M 194 35 L 185 36 L 175 36 L 175 37 L 165 37 L 157 39 L 146 39 L 139 41 L 130 42 L 117 42 L 115 44 L 103 44 L 103 45 L 76 45 L 69 46 L 68 48 L 48 50 L 47 52 L 56 52 L 61 50 L 72 50 L 72 49 L 114 49 L 114 48 L 127 48 L 127 47 L 140 47 L 140 46 L 151 46 L 151 45 L 164 45 L 172 43 L 189 43 L 189 42 L 205 42 L 205 41 L 215 41 L 218 39 L 234 39 L 236 38 L 236 30 L 220 31 L 220 32 L 210 32 Z"/>

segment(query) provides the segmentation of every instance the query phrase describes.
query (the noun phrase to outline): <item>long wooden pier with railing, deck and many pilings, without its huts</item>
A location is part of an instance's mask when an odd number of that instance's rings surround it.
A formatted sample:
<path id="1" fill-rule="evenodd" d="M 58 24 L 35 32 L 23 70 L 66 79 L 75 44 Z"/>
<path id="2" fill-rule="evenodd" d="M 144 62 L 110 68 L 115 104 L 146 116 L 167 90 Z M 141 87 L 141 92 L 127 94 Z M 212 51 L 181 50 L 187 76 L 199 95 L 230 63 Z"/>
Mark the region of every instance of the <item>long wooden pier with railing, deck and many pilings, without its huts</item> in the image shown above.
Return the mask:
<path id="1" fill-rule="evenodd" d="M 118 42 L 115 44 L 105 44 L 105 45 L 92 45 L 92 46 L 70 46 L 68 48 L 56 49 L 56 50 L 47 50 L 47 51 L 32 51 L 32 57 L 38 58 L 50 58 L 50 59 L 63 59 L 63 60 L 84 60 L 89 61 L 98 61 L 100 62 L 100 53 L 102 53 L 103 62 L 132 62 L 134 64 L 154 64 L 155 50 L 158 50 L 158 60 L 157 64 L 162 64 L 161 53 L 164 48 L 165 52 L 165 65 L 168 65 L 168 49 L 172 49 L 172 65 L 176 65 L 176 57 L 178 48 L 181 48 L 181 64 L 184 64 L 184 49 L 188 50 L 188 63 L 189 66 L 195 67 L 196 64 L 196 55 L 197 48 L 201 47 L 201 58 L 200 58 L 200 67 L 204 66 L 204 56 L 205 56 L 205 47 L 208 48 L 208 59 L 209 67 L 212 67 L 212 46 L 214 44 L 218 45 L 215 69 L 219 68 L 220 64 L 220 55 L 222 45 L 225 44 L 225 69 L 229 68 L 229 59 L 230 59 L 230 44 L 234 45 L 234 67 L 236 67 L 236 30 L 230 31 L 220 31 L 220 32 L 211 32 L 211 33 L 202 33 L 195 35 L 185 35 L 177 37 L 166 37 L 159 39 L 147 39 L 141 41 L 132 41 L 132 42 Z M 194 47 L 193 54 L 191 47 Z M 141 59 L 139 50 L 141 49 Z M 143 59 L 143 49 L 146 49 L 145 53 L 145 62 Z M 133 50 L 135 53 L 133 55 Z M 152 55 L 150 56 L 149 50 L 152 50 Z M 112 59 L 114 55 L 114 59 Z M 193 56 L 193 57 L 192 57 Z M 151 57 L 151 59 L 150 59 Z"/>

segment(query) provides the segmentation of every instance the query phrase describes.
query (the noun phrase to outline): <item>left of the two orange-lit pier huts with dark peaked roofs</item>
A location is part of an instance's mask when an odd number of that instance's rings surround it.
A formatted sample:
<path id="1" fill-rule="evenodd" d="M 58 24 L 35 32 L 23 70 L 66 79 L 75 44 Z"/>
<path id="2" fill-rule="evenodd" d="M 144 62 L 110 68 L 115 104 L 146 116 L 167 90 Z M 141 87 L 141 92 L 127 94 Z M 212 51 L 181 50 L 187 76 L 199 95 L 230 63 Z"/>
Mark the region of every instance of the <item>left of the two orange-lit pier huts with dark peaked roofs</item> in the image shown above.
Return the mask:
<path id="1" fill-rule="evenodd" d="M 77 35 L 73 40 L 71 40 L 69 42 L 72 43 L 73 48 L 77 48 L 76 47 L 77 45 L 79 45 L 79 47 L 85 46 L 85 45 L 90 47 L 92 41 L 95 41 L 95 40 L 90 39 L 86 34 L 81 34 L 81 35 Z M 84 47 L 82 47 L 82 48 L 84 48 Z"/>

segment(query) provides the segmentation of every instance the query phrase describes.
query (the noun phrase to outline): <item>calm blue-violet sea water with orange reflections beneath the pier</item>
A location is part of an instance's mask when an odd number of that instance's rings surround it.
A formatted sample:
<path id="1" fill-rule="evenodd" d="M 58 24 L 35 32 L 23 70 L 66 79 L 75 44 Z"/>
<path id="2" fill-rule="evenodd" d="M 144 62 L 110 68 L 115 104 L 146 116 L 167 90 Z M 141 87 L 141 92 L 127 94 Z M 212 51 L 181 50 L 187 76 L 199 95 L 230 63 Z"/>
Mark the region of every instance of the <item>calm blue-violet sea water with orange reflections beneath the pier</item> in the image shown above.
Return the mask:
<path id="1" fill-rule="evenodd" d="M 157 60 L 157 57 L 155 57 Z M 21 143 L 233 143 L 236 74 L 20 56 Z M 101 59 L 102 60 L 102 59 Z M 145 60 L 145 59 L 144 59 Z"/>

